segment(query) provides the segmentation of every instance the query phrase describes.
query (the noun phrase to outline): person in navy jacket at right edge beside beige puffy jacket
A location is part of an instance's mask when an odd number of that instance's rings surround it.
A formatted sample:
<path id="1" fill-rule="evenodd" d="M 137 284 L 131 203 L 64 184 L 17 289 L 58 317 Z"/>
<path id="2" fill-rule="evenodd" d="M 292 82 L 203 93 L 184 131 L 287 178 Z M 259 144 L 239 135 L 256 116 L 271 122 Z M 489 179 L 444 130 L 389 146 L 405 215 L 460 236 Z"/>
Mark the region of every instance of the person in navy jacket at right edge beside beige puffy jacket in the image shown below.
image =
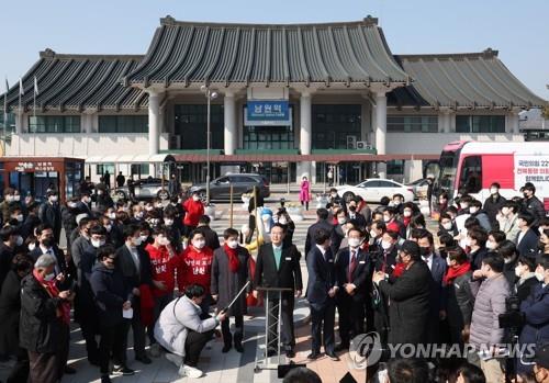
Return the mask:
<path id="1" fill-rule="evenodd" d="M 549 342 L 549 255 L 541 255 L 536 260 L 538 283 L 526 301 L 520 304 L 524 327 L 518 339 L 519 345 L 541 345 Z M 531 372 L 531 364 L 519 358 L 518 372 Z"/>

